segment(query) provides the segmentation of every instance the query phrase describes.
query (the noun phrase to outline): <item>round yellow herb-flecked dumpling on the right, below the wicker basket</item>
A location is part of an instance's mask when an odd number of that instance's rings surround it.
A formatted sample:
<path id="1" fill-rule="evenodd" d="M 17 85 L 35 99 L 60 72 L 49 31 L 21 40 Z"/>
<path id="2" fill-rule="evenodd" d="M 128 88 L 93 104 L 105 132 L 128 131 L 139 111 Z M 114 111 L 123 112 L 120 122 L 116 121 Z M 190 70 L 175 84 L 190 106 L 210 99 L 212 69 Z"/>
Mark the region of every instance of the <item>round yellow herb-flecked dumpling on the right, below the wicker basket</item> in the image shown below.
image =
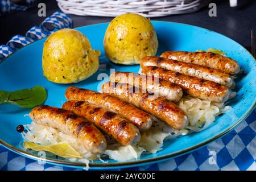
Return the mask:
<path id="1" fill-rule="evenodd" d="M 104 38 L 105 55 L 118 64 L 139 64 L 144 56 L 155 56 L 158 39 L 149 19 L 127 13 L 110 22 Z"/>

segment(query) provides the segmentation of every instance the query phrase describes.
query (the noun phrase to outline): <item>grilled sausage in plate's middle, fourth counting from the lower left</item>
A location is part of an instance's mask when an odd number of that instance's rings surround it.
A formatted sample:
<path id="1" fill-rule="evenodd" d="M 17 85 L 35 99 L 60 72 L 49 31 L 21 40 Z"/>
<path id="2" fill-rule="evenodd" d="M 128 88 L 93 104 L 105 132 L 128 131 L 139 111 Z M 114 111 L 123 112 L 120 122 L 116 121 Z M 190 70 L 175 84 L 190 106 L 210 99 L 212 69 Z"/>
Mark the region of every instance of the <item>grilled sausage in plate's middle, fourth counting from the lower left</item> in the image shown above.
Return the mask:
<path id="1" fill-rule="evenodd" d="M 102 92 L 112 94 L 122 100 L 155 115 L 174 129 L 180 130 L 188 125 L 188 118 L 183 110 L 163 97 L 155 97 L 154 94 L 142 93 L 133 85 L 117 82 L 105 82 Z"/>

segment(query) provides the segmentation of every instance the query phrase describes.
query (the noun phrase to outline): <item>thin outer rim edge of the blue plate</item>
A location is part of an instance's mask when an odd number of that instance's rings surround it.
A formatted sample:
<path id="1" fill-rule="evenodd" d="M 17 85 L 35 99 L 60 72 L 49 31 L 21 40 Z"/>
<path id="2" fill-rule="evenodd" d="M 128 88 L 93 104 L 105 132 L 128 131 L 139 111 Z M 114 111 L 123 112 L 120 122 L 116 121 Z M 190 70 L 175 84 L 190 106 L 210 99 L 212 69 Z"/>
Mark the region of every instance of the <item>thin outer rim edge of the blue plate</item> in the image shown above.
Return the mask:
<path id="1" fill-rule="evenodd" d="M 207 28 L 203 28 L 203 27 L 199 27 L 199 26 L 194 26 L 192 24 L 177 23 L 177 22 L 166 22 L 166 21 L 160 21 L 160 20 L 151 20 L 151 22 L 162 22 L 162 23 L 170 23 L 170 24 L 183 24 L 184 26 L 191 26 L 191 27 L 201 28 L 203 30 L 211 31 L 211 32 L 214 32 L 215 34 L 219 34 L 221 36 L 224 36 L 225 38 L 228 38 L 228 39 L 232 40 L 233 42 L 237 43 L 239 46 L 243 47 L 240 43 L 238 43 L 235 40 L 229 38 L 228 36 L 220 34 L 220 33 L 216 32 L 216 31 L 209 30 Z M 90 24 L 90 25 L 87 25 L 87 26 L 76 27 L 76 28 L 73 28 L 73 29 L 77 30 L 77 28 L 97 26 L 97 25 L 109 24 L 109 23 L 110 22 Z M 44 40 L 44 39 L 47 39 L 47 38 L 48 38 L 48 36 L 46 38 L 39 39 L 39 40 L 36 40 L 35 42 L 27 44 L 26 46 L 23 46 L 22 48 L 19 48 L 18 50 L 16 50 L 14 53 L 18 52 L 20 49 L 23 49 L 23 48 L 27 47 L 28 45 L 31 45 L 33 43 L 36 43 L 36 42 L 38 42 L 40 40 Z M 249 55 L 256 62 L 256 59 L 253 57 L 253 55 L 251 55 L 251 53 L 245 47 L 243 47 L 243 48 L 245 49 L 246 53 L 249 53 Z M 0 64 L 3 63 L 6 59 L 8 59 L 10 56 L 14 55 L 14 53 L 12 53 L 9 56 L 7 56 L 4 59 L 2 59 L 0 61 Z M 115 163 L 89 163 L 89 167 L 93 169 L 93 168 L 115 168 L 115 167 L 122 167 L 122 168 L 124 168 L 124 167 L 137 166 L 137 165 L 141 166 L 141 165 L 146 165 L 146 164 L 149 164 L 149 163 L 156 163 L 156 162 L 160 162 L 160 161 L 163 161 L 163 160 L 175 158 L 175 157 L 180 156 L 180 155 L 187 154 L 188 152 L 192 152 L 193 150 L 199 149 L 199 148 L 205 146 L 206 144 L 208 144 L 210 142 L 213 142 L 214 140 L 216 140 L 216 139 L 222 137 L 223 135 L 229 133 L 229 131 L 233 130 L 237 125 L 239 125 L 251 113 L 251 111 L 253 111 L 255 106 L 256 106 L 256 97 L 254 98 L 254 101 L 252 102 L 252 104 L 249 107 L 249 109 L 247 109 L 247 111 L 241 116 L 240 119 L 238 119 L 238 121 L 236 123 L 234 123 L 234 125 L 230 126 L 225 131 L 222 131 L 222 133 L 220 133 L 218 135 L 215 135 L 214 137 L 209 138 L 207 140 L 204 140 L 203 142 L 201 142 L 201 143 L 199 143 L 197 145 L 194 145 L 194 146 L 189 147 L 189 148 L 185 148 L 184 150 L 180 150 L 178 152 L 174 152 L 173 154 L 167 154 L 167 155 L 163 155 L 163 156 L 155 156 L 155 157 L 152 157 L 150 159 L 138 159 L 138 160 L 134 160 L 134 161 L 115 162 Z M 25 156 L 25 157 L 33 159 L 33 160 L 42 160 L 42 161 L 45 161 L 47 163 L 55 164 L 55 165 L 59 165 L 59 166 L 86 167 L 85 163 L 69 162 L 69 161 L 56 160 L 56 159 L 50 159 L 50 158 L 43 159 L 43 158 L 40 158 L 40 156 L 38 156 L 38 155 L 31 154 L 30 152 L 27 152 L 26 150 L 21 150 L 19 148 L 11 146 L 10 144 L 4 142 L 2 139 L 0 139 L 0 144 L 2 144 L 3 147 L 5 147 L 5 148 L 15 152 L 16 154 Z"/>

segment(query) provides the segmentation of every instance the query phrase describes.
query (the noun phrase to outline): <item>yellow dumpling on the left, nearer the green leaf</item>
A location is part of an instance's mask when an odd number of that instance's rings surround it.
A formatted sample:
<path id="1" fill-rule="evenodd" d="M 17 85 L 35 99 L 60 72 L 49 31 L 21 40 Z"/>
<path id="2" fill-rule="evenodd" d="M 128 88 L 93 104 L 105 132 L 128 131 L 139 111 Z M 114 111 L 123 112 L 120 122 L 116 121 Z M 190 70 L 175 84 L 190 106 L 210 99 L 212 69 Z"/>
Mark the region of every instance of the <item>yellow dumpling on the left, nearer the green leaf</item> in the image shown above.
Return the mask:
<path id="1" fill-rule="evenodd" d="M 99 67 L 100 51 L 92 49 L 81 32 L 64 28 L 44 43 L 43 72 L 49 81 L 76 83 L 93 75 Z"/>

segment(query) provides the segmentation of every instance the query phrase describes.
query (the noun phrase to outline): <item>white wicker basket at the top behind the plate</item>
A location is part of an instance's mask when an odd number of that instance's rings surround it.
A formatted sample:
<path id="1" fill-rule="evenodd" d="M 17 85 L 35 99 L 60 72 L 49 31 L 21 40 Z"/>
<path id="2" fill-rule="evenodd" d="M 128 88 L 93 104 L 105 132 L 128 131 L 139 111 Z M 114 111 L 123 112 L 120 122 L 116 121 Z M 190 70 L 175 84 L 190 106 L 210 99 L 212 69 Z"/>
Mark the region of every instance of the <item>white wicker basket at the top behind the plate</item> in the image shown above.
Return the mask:
<path id="1" fill-rule="evenodd" d="M 64 13 L 81 16 L 117 16 L 138 13 L 146 17 L 191 13 L 208 0 L 57 0 Z"/>

